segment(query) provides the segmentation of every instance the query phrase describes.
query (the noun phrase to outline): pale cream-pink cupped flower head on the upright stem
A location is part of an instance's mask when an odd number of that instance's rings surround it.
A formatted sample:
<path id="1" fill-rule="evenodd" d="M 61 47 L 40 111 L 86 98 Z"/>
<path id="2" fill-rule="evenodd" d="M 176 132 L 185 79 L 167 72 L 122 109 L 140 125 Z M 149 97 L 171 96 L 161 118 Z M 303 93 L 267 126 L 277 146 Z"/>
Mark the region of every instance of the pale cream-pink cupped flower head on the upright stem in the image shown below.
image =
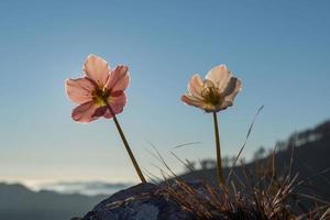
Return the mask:
<path id="1" fill-rule="evenodd" d="M 206 112 L 218 112 L 233 105 L 241 88 L 242 81 L 233 77 L 226 65 L 219 65 L 209 70 L 205 80 L 194 75 L 188 84 L 188 94 L 182 100 Z"/>

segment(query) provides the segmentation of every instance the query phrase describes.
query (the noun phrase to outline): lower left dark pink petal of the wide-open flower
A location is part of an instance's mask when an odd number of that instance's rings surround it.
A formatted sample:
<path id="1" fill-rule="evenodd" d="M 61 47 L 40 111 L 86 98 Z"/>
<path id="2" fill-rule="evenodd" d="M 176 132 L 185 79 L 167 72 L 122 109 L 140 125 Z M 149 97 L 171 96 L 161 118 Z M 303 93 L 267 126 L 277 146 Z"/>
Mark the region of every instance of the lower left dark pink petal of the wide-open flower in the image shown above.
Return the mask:
<path id="1" fill-rule="evenodd" d="M 73 110 L 72 117 L 75 121 L 88 123 L 99 118 L 99 116 L 96 116 L 98 108 L 94 101 L 89 101 L 76 107 Z"/>

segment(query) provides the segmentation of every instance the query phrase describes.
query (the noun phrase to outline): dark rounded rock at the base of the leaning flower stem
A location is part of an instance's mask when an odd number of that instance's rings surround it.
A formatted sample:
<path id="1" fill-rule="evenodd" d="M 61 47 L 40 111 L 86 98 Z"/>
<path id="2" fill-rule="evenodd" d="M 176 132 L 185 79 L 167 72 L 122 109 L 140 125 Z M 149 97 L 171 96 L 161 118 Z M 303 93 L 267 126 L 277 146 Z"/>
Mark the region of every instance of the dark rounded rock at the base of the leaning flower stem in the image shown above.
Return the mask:
<path id="1" fill-rule="evenodd" d="M 76 218 L 75 220 L 78 220 Z M 194 219 L 154 184 L 121 190 L 98 204 L 79 220 L 183 220 Z"/>

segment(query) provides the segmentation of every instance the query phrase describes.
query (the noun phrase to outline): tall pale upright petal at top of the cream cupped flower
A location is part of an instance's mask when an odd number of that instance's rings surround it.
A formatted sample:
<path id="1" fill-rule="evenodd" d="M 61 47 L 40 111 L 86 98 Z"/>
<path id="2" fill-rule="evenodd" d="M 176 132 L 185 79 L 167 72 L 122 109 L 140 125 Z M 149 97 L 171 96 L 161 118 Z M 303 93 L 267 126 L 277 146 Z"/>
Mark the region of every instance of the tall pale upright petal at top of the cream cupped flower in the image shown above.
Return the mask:
<path id="1" fill-rule="evenodd" d="M 213 67 L 211 70 L 208 72 L 206 76 L 206 79 L 211 80 L 218 87 L 220 92 L 223 91 L 230 78 L 231 78 L 231 73 L 223 64 Z"/>

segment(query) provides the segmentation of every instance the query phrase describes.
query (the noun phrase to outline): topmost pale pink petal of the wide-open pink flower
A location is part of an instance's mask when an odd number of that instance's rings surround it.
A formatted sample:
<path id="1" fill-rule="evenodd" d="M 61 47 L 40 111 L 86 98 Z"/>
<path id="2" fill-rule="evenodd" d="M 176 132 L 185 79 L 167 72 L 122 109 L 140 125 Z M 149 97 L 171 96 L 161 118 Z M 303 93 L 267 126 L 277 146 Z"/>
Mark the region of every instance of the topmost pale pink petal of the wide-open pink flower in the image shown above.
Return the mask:
<path id="1" fill-rule="evenodd" d="M 108 62 L 96 55 L 88 55 L 84 65 L 84 72 L 87 77 L 95 80 L 100 87 L 103 87 L 110 74 Z"/>

